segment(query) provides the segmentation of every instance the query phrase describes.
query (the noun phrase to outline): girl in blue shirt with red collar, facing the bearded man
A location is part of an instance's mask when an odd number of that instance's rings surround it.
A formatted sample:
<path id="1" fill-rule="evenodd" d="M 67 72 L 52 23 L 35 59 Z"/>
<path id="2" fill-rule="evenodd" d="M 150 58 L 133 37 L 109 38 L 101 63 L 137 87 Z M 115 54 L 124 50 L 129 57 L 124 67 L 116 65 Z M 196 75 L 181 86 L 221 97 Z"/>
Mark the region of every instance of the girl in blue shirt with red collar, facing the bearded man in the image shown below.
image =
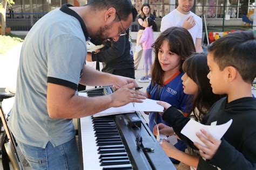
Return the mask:
<path id="1" fill-rule="evenodd" d="M 175 105 L 186 113 L 190 111 L 186 107 L 188 95 L 183 92 L 181 77 L 184 75 L 182 65 L 186 58 L 196 52 L 191 34 L 182 27 L 171 27 L 165 30 L 153 44 L 155 59 L 152 66 L 152 80 L 147 87 L 146 95 L 153 100 L 165 101 Z M 151 112 L 149 115 L 149 128 L 153 131 L 156 123 L 164 123 L 159 114 Z M 184 151 L 186 144 L 178 141 L 175 145 Z M 179 161 L 172 159 L 174 163 Z"/>

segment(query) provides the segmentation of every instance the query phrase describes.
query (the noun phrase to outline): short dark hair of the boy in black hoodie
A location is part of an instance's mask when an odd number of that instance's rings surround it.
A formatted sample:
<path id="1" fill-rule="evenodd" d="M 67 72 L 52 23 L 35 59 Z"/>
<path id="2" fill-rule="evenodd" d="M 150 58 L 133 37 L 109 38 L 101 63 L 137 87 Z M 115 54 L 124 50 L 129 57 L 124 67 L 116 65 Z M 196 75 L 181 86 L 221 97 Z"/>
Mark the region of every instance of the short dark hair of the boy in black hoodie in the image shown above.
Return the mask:
<path id="1" fill-rule="evenodd" d="M 227 34 L 207 47 L 220 70 L 232 66 L 242 80 L 252 83 L 256 76 L 256 38 L 252 30 Z"/>

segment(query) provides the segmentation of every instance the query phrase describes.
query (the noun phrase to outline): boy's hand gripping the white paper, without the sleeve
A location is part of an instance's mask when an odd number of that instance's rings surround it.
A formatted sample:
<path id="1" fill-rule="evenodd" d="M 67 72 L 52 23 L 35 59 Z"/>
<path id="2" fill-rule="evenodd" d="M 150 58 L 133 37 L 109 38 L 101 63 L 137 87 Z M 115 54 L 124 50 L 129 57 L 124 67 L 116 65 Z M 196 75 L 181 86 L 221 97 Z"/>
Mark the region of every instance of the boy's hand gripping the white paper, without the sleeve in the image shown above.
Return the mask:
<path id="1" fill-rule="evenodd" d="M 215 139 L 210 133 L 207 133 L 205 130 L 201 129 L 201 132 L 205 135 L 205 137 L 197 133 L 197 137 L 203 141 L 203 143 L 207 146 L 201 146 L 197 142 L 194 142 L 194 145 L 199 149 L 201 157 L 211 160 L 215 153 L 217 152 L 221 140 Z"/>

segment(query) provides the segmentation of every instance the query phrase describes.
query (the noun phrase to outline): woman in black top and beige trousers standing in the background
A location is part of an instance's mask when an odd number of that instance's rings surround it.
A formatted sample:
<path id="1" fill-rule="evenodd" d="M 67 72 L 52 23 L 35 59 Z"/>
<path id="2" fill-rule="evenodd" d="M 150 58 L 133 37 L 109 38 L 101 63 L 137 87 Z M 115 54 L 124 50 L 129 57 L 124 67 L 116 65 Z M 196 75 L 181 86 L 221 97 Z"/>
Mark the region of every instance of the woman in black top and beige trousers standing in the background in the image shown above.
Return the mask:
<path id="1" fill-rule="evenodd" d="M 137 42 L 136 46 L 140 45 L 140 38 L 142 38 L 143 31 L 145 30 L 144 26 L 144 20 L 146 17 L 151 18 L 152 20 L 155 20 L 154 16 L 152 15 L 150 11 L 150 5 L 145 3 L 142 5 L 142 8 L 140 8 L 139 15 L 138 15 L 138 23 L 139 23 L 139 31 L 137 33 Z M 134 53 L 134 68 L 137 69 L 139 66 L 140 59 L 142 58 L 142 51 L 136 51 Z"/>

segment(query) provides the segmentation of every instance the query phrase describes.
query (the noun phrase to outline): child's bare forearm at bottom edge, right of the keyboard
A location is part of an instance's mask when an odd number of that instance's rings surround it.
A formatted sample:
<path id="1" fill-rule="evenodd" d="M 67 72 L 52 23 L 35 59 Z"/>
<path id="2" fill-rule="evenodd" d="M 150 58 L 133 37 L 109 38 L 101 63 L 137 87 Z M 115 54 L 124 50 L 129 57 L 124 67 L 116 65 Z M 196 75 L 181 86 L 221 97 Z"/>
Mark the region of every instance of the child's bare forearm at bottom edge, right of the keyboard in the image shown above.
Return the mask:
<path id="1" fill-rule="evenodd" d="M 163 144 L 161 144 L 161 147 L 163 148 L 168 157 L 177 159 L 186 165 L 197 168 L 199 157 L 178 150 L 166 140 L 163 140 Z"/>

